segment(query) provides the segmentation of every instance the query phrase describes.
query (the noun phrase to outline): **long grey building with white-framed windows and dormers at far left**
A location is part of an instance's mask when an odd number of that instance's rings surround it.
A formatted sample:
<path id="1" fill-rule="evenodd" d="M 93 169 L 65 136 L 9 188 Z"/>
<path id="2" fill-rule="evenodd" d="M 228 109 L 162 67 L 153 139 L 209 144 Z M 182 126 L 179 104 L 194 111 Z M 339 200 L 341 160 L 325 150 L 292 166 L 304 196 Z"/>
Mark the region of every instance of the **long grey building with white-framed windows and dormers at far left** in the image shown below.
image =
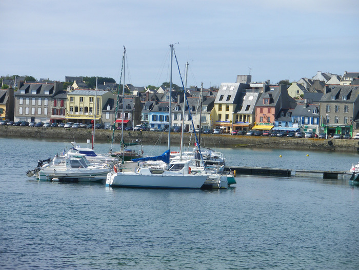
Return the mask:
<path id="1" fill-rule="evenodd" d="M 53 97 L 63 90 L 63 83 L 18 83 L 14 94 L 14 121 L 49 122 Z"/>

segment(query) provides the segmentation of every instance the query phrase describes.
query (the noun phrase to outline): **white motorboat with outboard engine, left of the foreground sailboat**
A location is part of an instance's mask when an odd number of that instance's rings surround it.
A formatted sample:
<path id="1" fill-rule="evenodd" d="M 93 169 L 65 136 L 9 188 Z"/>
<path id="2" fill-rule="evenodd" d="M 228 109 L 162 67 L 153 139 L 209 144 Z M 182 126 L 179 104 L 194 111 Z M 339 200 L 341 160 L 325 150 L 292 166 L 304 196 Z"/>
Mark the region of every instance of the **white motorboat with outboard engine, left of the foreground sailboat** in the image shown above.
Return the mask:
<path id="1" fill-rule="evenodd" d="M 106 180 L 111 167 L 106 164 L 95 165 L 88 161 L 85 154 L 67 152 L 56 156 L 52 161 L 39 163 L 27 176 L 36 176 L 37 180 L 59 182 L 101 182 Z"/>

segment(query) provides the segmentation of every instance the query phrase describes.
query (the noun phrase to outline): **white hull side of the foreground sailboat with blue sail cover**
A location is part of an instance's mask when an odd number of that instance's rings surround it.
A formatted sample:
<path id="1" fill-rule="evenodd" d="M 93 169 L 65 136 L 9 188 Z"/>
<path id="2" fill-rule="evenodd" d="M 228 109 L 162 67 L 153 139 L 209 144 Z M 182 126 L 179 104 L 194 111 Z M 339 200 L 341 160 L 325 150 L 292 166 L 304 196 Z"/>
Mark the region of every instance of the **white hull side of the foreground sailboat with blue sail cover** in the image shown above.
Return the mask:
<path id="1" fill-rule="evenodd" d="M 110 172 L 106 186 L 138 188 L 201 188 L 207 176 L 197 175 L 139 175 L 137 173 Z"/>

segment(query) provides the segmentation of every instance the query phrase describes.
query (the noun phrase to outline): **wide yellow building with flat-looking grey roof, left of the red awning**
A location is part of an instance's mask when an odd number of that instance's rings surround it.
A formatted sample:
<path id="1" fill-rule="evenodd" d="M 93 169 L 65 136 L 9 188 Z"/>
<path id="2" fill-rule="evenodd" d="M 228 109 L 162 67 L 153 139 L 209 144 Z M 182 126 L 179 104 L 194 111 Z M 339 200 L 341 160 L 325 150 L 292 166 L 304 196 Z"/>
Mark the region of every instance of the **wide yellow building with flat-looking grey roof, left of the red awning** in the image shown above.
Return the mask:
<path id="1" fill-rule="evenodd" d="M 102 108 L 109 98 L 110 91 L 102 90 L 73 90 L 67 94 L 66 121 L 90 124 L 96 113 L 96 120 L 102 118 Z M 95 98 L 97 102 L 95 103 Z M 95 112 L 96 111 L 96 112 Z"/>

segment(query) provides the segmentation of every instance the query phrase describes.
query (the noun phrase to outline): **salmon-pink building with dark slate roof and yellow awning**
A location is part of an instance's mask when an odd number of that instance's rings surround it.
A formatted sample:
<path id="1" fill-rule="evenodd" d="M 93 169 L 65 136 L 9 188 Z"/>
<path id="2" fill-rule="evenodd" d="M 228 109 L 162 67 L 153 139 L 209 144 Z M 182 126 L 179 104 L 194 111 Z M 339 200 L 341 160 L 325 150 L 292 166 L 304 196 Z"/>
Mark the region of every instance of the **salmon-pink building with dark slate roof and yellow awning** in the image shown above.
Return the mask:
<path id="1" fill-rule="evenodd" d="M 261 94 L 255 106 L 256 130 L 270 130 L 274 127 L 275 118 L 280 117 L 280 112 L 293 109 L 296 102 L 287 91 L 287 85 L 269 86 L 269 90 Z"/>

